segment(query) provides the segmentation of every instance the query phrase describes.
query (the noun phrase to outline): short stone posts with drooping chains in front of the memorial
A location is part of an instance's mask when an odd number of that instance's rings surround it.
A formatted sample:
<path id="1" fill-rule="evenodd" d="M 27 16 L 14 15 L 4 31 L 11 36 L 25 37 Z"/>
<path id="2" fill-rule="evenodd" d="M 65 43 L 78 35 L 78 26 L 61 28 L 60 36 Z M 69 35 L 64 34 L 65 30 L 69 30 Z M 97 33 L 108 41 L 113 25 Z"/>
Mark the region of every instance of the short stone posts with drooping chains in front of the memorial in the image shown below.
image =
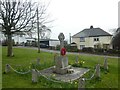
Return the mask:
<path id="1" fill-rule="evenodd" d="M 106 70 L 106 69 L 108 70 L 108 66 L 107 66 L 106 63 L 107 63 L 107 58 L 105 57 L 104 65 L 103 65 L 103 67 L 105 67 L 104 70 Z M 45 75 L 42 75 L 40 73 L 40 71 L 37 70 L 37 69 L 28 70 L 27 72 L 18 72 L 11 65 L 6 64 L 5 73 L 9 73 L 11 70 L 13 70 L 14 72 L 16 72 L 18 74 L 28 74 L 28 73 L 32 72 L 32 82 L 33 83 L 38 82 L 38 76 L 42 76 L 42 77 L 44 77 L 47 80 L 52 81 L 52 82 L 63 83 L 62 81 L 53 80 L 51 78 L 48 78 Z M 85 81 L 91 80 L 93 77 L 100 78 L 100 64 L 96 65 L 95 71 L 94 71 L 93 75 L 90 78 L 82 78 L 82 77 L 79 78 L 78 88 L 84 88 L 85 87 Z M 67 83 L 70 83 L 70 82 L 67 82 Z"/>

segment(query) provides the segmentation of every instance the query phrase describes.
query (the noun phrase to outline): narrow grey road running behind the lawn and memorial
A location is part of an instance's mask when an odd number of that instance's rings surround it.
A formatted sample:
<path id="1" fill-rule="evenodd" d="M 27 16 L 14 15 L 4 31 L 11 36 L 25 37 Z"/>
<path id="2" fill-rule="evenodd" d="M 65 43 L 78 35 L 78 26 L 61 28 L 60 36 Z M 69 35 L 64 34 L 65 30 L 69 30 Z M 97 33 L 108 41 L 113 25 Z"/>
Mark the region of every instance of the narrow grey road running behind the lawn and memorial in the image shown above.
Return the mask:
<path id="1" fill-rule="evenodd" d="M 28 49 L 38 49 L 37 47 L 19 47 L 19 48 L 28 48 Z M 60 53 L 60 51 L 56 50 L 48 50 L 48 49 L 40 49 L 41 51 L 44 52 L 52 52 L 52 53 Z M 100 57 L 105 57 L 106 55 L 95 55 L 95 54 L 86 54 L 86 53 L 76 53 L 76 52 L 67 52 L 66 54 L 75 54 L 75 55 L 85 55 L 85 56 L 100 56 Z M 120 58 L 118 56 L 106 56 L 109 58 Z"/>

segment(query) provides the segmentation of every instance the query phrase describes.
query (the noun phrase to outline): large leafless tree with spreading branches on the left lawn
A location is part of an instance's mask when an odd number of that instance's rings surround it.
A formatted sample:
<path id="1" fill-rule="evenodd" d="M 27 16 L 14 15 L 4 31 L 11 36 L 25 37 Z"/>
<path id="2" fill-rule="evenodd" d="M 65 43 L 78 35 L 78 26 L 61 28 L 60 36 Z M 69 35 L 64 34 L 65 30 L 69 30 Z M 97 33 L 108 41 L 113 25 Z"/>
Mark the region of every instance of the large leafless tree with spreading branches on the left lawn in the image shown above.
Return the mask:
<path id="1" fill-rule="evenodd" d="M 36 23 L 37 4 L 30 1 L 20 2 L 18 0 L 0 0 L 0 25 L 2 32 L 7 36 L 7 56 L 13 56 L 12 35 L 18 32 L 30 32 Z M 39 19 L 41 23 L 46 20 L 45 6 L 39 4 Z"/>

